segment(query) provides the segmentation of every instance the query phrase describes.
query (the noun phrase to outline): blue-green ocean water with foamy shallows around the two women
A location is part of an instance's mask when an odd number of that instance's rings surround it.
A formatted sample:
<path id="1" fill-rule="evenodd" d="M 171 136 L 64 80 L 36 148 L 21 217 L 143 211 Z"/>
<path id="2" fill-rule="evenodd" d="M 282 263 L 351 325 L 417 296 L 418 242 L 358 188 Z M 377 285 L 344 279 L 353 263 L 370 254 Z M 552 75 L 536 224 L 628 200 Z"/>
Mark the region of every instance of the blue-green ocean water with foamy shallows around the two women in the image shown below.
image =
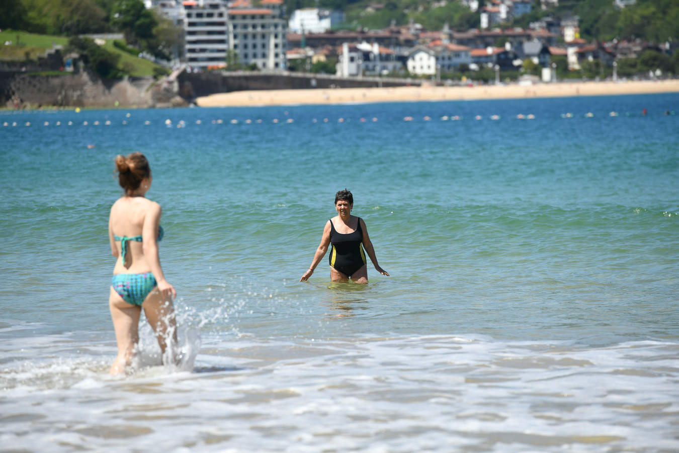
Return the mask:
<path id="1" fill-rule="evenodd" d="M 0 113 L 0 450 L 676 452 L 677 105 Z M 187 359 L 113 378 L 132 151 Z M 345 187 L 391 276 L 299 283 Z"/>

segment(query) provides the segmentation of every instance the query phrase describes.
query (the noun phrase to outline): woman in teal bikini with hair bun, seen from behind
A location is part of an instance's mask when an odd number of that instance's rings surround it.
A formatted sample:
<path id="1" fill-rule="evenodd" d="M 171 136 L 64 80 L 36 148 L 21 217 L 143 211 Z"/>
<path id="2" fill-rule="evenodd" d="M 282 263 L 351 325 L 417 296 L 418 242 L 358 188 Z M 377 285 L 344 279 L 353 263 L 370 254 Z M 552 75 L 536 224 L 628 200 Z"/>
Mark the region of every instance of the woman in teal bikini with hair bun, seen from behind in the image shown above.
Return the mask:
<path id="1" fill-rule="evenodd" d="M 118 356 L 111 374 L 122 374 L 130 365 L 134 347 L 139 342 L 141 309 L 158 338 L 166 357 L 177 344 L 177 327 L 172 298 L 175 288 L 165 280 L 158 241 L 163 237 L 160 204 L 145 198 L 151 187 L 151 168 L 142 153 L 115 158 L 120 187 L 125 191 L 113 206 L 109 217 L 111 252 L 117 258 L 113 268 L 109 308 L 118 344 Z M 172 357 L 172 361 L 175 358 Z"/>

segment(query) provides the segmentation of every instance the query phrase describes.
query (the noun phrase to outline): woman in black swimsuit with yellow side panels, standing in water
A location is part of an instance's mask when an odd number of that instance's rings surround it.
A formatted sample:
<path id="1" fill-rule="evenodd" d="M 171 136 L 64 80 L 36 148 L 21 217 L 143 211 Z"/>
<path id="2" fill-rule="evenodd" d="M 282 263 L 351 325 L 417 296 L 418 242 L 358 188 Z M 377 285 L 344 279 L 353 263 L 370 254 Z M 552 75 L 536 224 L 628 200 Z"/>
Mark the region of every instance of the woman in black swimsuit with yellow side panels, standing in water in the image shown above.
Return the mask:
<path id="1" fill-rule="evenodd" d="M 325 223 L 323 236 L 320 238 L 320 245 L 316 249 L 311 266 L 304 272 L 299 281 L 304 282 L 312 276 L 314 269 L 325 256 L 328 246 L 331 247 L 329 262 L 330 279 L 333 282 L 348 281 L 351 278 L 354 283 L 368 283 L 368 268 L 363 252 L 364 248 L 370 257 L 370 261 L 373 262 L 375 270 L 382 275 L 389 275 L 378 264 L 365 222 L 361 217 L 351 215 L 353 208 L 354 197 L 351 192 L 344 189 L 335 194 L 337 215 Z"/>

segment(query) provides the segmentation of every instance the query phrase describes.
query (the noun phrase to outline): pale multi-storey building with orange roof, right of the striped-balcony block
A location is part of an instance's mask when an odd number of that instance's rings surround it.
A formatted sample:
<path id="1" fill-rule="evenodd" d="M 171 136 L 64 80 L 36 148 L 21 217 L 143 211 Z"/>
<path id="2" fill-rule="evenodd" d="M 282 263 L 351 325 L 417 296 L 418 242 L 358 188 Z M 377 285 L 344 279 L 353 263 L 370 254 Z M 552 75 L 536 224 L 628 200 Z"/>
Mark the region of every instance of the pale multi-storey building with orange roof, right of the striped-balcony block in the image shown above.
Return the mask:
<path id="1" fill-rule="evenodd" d="M 229 48 L 244 65 L 285 69 L 287 23 L 283 0 L 261 0 L 259 8 L 238 0 L 228 14 Z"/>

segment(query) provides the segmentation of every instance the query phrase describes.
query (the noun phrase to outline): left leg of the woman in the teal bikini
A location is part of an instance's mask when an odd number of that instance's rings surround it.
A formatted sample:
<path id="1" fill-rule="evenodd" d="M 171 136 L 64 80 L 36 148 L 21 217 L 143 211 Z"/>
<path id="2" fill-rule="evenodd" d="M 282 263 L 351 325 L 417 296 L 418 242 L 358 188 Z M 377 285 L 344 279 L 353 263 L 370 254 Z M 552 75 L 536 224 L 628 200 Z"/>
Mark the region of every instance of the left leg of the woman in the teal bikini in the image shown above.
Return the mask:
<path id="1" fill-rule="evenodd" d="M 118 357 L 111 365 L 109 373 L 123 374 L 132 360 L 134 346 L 139 342 L 141 307 L 128 304 L 111 287 L 109 309 L 111 310 L 113 329 L 115 329 L 115 340 L 118 344 Z"/>

